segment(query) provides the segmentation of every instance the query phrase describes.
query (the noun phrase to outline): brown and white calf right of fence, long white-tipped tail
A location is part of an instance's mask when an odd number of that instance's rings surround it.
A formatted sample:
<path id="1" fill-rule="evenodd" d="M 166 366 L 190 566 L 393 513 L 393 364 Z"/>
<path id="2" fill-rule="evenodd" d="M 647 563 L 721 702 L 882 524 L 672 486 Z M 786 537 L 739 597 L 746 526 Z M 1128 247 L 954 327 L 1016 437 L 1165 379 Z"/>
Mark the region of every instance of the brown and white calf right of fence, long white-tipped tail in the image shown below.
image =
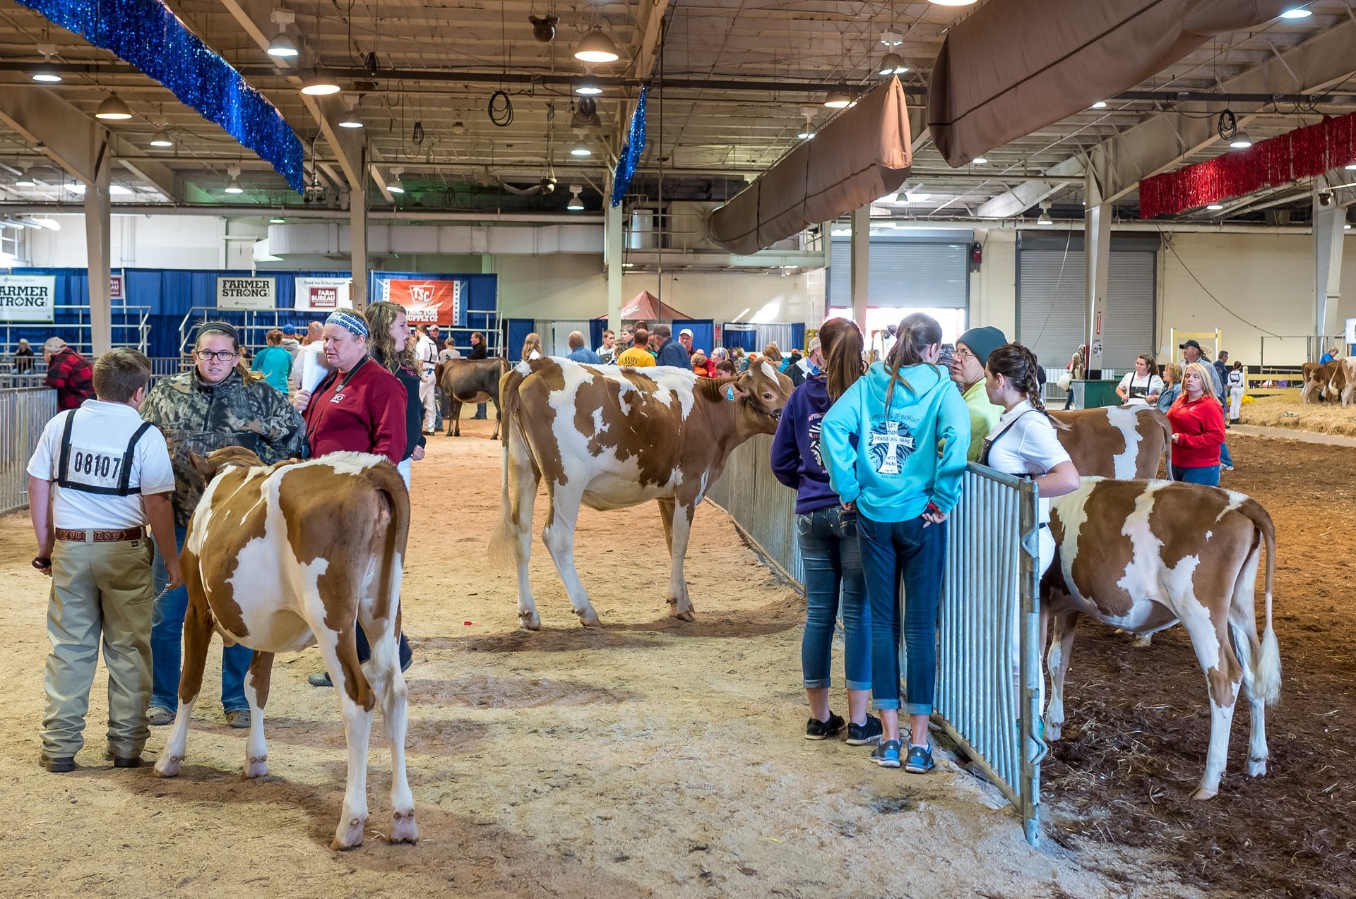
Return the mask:
<path id="1" fill-rule="evenodd" d="M 1088 478 L 1050 501 L 1056 555 L 1041 579 L 1041 634 L 1054 621 L 1045 734 L 1064 723 L 1064 674 L 1081 615 L 1135 634 L 1178 621 L 1186 628 L 1210 695 L 1210 750 L 1193 795 L 1219 791 L 1239 685 L 1248 690 L 1248 773 L 1267 773 L 1265 705 L 1280 696 L 1272 630 L 1276 531 L 1254 500 L 1172 481 Z M 1257 639 L 1254 592 L 1267 547 L 1267 627 Z"/>

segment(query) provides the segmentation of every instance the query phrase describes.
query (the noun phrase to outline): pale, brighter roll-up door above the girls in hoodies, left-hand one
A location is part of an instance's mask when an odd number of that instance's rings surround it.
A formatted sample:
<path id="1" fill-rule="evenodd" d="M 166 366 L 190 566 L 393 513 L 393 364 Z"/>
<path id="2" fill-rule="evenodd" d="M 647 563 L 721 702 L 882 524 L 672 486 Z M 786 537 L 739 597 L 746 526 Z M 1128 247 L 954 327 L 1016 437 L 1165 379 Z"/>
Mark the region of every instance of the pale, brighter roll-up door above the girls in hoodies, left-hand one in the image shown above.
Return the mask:
<path id="1" fill-rule="evenodd" d="M 829 305 L 852 306 L 852 241 L 835 240 L 829 260 Z M 970 244 L 871 238 L 869 306 L 967 309 Z"/>

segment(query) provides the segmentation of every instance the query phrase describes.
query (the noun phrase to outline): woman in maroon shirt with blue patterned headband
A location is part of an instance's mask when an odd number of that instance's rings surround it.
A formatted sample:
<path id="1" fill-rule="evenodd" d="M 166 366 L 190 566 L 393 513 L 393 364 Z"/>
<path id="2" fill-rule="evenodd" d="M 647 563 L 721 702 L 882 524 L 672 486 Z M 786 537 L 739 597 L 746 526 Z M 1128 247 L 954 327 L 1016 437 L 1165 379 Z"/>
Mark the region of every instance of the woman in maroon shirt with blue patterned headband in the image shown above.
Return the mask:
<path id="1" fill-rule="evenodd" d="M 325 320 L 323 340 L 334 372 L 315 395 L 298 390 L 292 399 L 306 420 L 311 456 L 347 450 L 400 464 L 405 455 L 405 386 L 367 356 L 367 322 L 339 309 Z"/>

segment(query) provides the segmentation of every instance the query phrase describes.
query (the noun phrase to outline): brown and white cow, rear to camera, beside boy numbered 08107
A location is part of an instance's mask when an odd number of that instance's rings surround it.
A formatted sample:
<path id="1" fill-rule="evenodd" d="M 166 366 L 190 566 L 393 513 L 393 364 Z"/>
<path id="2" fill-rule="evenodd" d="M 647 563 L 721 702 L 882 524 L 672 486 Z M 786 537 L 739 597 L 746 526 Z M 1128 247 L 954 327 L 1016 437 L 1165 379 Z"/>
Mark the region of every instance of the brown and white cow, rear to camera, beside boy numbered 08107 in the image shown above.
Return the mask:
<path id="1" fill-rule="evenodd" d="M 367 741 L 378 703 L 391 738 L 391 842 L 415 842 L 414 795 L 405 779 L 405 681 L 396 649 L 410 533 L 410 494 L 400 474 L 382 456 L 358 452 L 264 466 L 248 450 L 231 447 L 207 459 L 195 456 L 194 464 L 207 489 L 179 555 L 188 588 L 179 712 L 155 773 L 179 773 L 214 628 L 226 644 L 255 651 L 245 678 L 245 777 L 268 773 L 263 708 L 274 653 L 319 643 L 348 739 L 348 785 L 330 845 L 362 843 Z M 358 624 L 372 644 L 366 669 L 358 663 Z"/>

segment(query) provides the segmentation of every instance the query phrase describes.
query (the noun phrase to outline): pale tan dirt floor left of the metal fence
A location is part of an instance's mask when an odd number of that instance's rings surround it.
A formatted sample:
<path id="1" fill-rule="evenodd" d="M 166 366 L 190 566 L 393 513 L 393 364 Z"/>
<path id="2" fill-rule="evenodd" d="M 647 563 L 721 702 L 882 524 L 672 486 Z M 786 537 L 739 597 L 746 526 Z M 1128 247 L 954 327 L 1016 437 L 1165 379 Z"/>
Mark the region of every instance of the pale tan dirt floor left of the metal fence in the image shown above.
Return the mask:
<path id="1" fill-rule="evenodd" d="M 0 783 L 11 814 L 0 894 L 1204 895 L 1199 879 L 1178 881 L 1172 845 L 1060 831 L 1035 850 L 993 788 L 952 762 L 914 777 L 871 765 L 866 749 L 804 741 L 804 604 L 711 506 L 697 512 L 687 558 L 696 623 L 667 615 L 663 532 L 655 509 L 640 508 L 584 510 L 580 520 L 576 558 L 605 627 L 579 627 L 538 542 L 545 630 L 518 630 L 513 575 L 483 561 L 499 452 L 481 422 L 462 435 L 433 439 L 430 459 L 415 467 L 404 600 L 416 654 L 408 770 L 418 846 L 382 839 L 391 762 L 377 737 L 367 842 L 328 849 L 344 747 L 335 697 L 305 684 L 320 667 L 315 649 L 279 657 L 274 669 L 267 779 L 240 779 L 245 732 L 224 726 L 212 690 L 178 779 L 110 768 L 102 673 L 80 768 L 39 769 L 46 584 L 28 567 L 26 516 L 0 520 L 0 623 L 9 634 L 0 649 Z M 1075 678 L 1094 670 L 1092 643 Z M 209 659 L 205 682 L 216 684 L 220 654 Z M 1196 686 L 1181 701 L 1195 703 Z M 1075 703 L 1090 696 L 1077 680 Z M 1070 723 L 1077 728 L 1078 715 Z M 153 730 L 148 757 L 167 730 Z M 1182 750 L 1193 760 L 1203 746 L 1189 739 Z M 1279 769 L 1287 758 L 1280 749 Z M 1176 785 L 1165 789 L 1176 802 Z"/>

